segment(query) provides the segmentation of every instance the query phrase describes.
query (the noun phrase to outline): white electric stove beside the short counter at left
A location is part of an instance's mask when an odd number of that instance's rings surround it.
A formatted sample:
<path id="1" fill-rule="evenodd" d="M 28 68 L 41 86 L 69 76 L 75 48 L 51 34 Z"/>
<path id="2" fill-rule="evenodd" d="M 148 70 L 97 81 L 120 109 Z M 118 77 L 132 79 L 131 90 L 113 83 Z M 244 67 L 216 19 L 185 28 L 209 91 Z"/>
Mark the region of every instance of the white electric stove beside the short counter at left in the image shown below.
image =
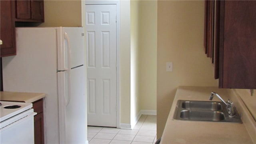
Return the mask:
<path id="1" fill-rule="evenodd" d="M 31 103 L 0 101 L 0 143 L 34 143 L 34 109 Z"/>

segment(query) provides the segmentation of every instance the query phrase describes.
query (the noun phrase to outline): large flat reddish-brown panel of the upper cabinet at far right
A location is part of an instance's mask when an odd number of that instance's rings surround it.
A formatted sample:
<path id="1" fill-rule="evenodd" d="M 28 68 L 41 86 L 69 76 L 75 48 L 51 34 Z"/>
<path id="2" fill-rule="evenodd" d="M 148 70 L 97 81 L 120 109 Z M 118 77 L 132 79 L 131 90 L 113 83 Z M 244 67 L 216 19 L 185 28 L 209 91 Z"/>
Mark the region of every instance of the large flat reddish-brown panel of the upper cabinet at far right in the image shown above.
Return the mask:
<path id="1" fill-rule="evenodd" d="M 221 88 L 256 89 L 256 1 L 221 1 Z"/>

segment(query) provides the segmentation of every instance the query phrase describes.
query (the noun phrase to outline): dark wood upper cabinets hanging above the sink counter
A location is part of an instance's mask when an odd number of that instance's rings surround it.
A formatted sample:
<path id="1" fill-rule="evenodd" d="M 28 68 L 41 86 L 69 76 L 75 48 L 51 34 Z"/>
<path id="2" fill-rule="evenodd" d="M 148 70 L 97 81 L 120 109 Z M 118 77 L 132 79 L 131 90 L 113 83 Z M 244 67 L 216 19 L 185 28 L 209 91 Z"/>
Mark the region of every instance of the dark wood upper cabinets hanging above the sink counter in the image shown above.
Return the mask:
<path id="1" fill-rule="evenodd" d="M 256 1 L 205 1 L 204 25 L 219 87 L 256 89 Z"/>

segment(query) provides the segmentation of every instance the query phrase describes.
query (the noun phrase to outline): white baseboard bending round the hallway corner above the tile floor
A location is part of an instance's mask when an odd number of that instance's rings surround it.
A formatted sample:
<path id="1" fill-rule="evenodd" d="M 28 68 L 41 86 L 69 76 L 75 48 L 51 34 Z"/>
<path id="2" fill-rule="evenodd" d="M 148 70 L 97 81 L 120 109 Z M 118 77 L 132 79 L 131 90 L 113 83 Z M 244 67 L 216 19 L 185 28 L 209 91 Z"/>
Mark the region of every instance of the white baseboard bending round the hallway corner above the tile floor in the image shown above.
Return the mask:
<path id="1" fill-rule="evenodd" d="M 136 123 L 138 122 L 138 120 L 140 119 L 140 116 L 142 114 L 143 115 L 156 115 L 156 110 L 140 110 L 140 112 L 137 114 L 137 116 L 133 122 L 131 122 L 130 124 L 120 123 L 120 128 L 132 130 L 134 128 L 134 126 L 136 125 Z"/>

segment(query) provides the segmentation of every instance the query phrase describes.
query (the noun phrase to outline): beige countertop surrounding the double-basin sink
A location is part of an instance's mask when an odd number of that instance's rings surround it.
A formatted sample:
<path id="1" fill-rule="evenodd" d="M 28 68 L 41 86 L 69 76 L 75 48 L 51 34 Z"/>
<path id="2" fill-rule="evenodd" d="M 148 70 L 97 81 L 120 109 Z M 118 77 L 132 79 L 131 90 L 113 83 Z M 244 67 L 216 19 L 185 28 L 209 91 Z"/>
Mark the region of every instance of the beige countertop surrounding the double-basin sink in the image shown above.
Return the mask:
<path id="1" fill-rule="evenodd" d="M 209 101 L 211 91 L 219 94 L 225 101 L 230 98 L 228 89 L 193 86 L 178 87 L 160 144 L 253 144 L 254 138 L 252 140 L 246 129 L 248 122 L 245 124 L 244 121 L 246 120 L 243 119 L 243 124 L 172 120 L 177 100 Z M 230 100 L 232 99 L 230 98 Z M 220 101 L 220 99 L 214 96 L 213 101 Z M 236 104 L 234 103 L 235 106 Z M 240 113 L 239 111 L 238 113 Z M 241 116 L 241 118 L 243 117 Z M 253 132 L 255 132 L 255 127 Z"/>

